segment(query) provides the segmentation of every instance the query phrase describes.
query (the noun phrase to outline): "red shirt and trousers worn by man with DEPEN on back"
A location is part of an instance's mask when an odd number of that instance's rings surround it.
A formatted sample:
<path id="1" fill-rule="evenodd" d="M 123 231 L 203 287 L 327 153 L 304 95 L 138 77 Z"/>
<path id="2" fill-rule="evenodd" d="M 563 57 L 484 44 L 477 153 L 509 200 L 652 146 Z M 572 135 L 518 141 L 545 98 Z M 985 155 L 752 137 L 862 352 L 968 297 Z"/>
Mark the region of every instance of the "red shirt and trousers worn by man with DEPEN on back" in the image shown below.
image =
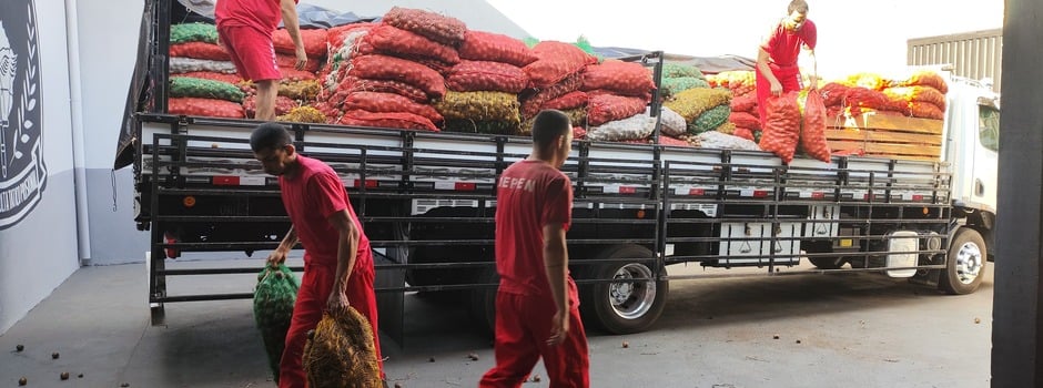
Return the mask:
<path id="1" fill-rule="evenodd" d="M 557 307 L 544 266 L 543 228 L 550 223 L 568 227 L 571 183 L 544 162 L 520 161 L 504 171 L 497 191 L 496 366 L 479 387 L 520 387 L 540 357 L 550 387 L 588 387 L 587 337 L 571 277 L 568 335 L 557 346 L 547 345 Z"/>

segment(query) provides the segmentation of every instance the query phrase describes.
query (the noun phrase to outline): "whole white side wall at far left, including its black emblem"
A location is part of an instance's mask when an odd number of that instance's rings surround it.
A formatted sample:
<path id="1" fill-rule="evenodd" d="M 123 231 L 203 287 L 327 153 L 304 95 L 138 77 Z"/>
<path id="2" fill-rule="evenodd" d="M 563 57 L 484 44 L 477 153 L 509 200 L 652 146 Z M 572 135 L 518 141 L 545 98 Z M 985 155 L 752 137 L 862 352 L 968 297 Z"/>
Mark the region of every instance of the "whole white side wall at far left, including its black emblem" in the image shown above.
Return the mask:
<path id="1" fill-rule="evenodd" d="M 0 334 L 79 266 L 68 70 L 64 2 L 0 2 Z"/>

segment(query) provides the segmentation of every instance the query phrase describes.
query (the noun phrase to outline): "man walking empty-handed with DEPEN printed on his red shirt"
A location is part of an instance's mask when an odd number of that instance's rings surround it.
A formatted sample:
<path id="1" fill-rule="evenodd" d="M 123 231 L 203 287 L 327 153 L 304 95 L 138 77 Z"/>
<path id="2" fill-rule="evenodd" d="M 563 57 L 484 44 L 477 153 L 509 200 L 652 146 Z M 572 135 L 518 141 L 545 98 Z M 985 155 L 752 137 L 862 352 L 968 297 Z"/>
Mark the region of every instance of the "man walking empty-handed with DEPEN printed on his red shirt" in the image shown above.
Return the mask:
<path id="1" fill-rule="evenodd" d="M 568 159 L 571 127 L 560 111 L 536 115 L 533 153 L 497 184 L 496 366 L 480 387 L 520 387 L 540 357 L 551 387 L 589 386 L 587 337 L 565 246 L 573 185 L 558 170 Z"/>

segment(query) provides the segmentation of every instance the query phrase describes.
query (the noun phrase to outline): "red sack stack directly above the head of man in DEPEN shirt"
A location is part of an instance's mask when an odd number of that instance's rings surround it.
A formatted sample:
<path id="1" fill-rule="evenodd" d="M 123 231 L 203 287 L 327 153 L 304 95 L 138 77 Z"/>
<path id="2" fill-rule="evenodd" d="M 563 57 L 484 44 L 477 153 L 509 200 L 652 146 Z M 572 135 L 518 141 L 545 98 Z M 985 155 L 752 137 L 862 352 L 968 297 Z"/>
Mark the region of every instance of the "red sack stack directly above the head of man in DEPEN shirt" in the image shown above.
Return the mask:
<path id="1" fill-rule="evenodd" d="M 522 118 L 526 121 L 522 125 L 523 133 L 531 130 L 530 120 L 545 109 L 564 111 L 574 125 L 585 126 L 589 98 L 580 91 L 584 69 L 597 63 L 597 58 L 575 44 L 558 41 L 538 42 L 533 47 L 533 53 L 536 61 L 522 68 L 533 86 L 522 98 Z M 640 111 L 644 106 L 638 113 Z"/>

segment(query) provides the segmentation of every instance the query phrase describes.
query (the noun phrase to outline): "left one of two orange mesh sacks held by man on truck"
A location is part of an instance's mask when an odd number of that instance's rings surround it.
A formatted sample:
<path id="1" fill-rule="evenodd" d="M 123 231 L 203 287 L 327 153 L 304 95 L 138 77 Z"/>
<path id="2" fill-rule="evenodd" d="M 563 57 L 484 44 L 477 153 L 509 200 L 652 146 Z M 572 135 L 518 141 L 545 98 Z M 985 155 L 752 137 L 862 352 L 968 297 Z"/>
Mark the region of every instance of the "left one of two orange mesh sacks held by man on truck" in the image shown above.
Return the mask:
<path id="1" fill-rule="evenodd" d="M 800 106 L 797 104 L 798 92 L 788 92 L 781 96 L 768 98 L 768 118 L 760 149 L 771 152 L 789 164 L 797 153 L 800 140 Z"/>

